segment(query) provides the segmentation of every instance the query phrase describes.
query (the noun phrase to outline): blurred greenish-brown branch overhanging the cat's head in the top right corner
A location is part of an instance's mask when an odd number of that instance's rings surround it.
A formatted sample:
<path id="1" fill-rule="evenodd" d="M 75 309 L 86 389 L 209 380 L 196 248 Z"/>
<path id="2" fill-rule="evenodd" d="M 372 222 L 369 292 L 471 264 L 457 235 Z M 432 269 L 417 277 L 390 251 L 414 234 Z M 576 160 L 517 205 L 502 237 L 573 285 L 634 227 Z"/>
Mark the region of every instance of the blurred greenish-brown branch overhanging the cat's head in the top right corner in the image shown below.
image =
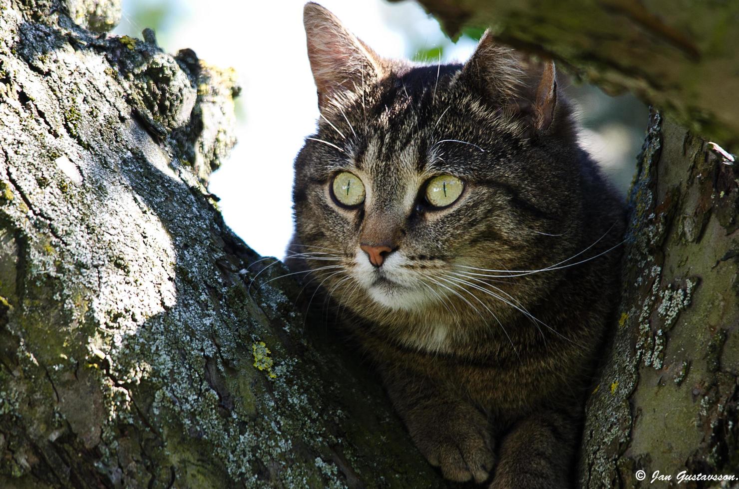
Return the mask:
<path id="1" fill-rule="evenodd" d="M 419 0 L 449 33 L 487 27 L 611 92 L 624 89 L 683 126 L 739 143 L 739 2 Z"/>

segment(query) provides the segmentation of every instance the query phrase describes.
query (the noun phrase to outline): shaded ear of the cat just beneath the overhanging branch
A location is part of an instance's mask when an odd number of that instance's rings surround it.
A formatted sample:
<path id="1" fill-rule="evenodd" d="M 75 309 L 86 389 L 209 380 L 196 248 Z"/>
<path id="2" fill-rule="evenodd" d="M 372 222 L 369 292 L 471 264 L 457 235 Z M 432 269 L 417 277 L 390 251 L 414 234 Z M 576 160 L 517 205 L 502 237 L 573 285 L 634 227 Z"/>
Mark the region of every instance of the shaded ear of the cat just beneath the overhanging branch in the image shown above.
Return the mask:
<path id="1" fill-rule="evenodd" d="M 463 68 L 467 83 L 528 129 L 547 131 L 557 109 L 556 70 L 552 61 L 534 66 L 514 49 L 497 44 L 489 31 L 480 38 Z"/>

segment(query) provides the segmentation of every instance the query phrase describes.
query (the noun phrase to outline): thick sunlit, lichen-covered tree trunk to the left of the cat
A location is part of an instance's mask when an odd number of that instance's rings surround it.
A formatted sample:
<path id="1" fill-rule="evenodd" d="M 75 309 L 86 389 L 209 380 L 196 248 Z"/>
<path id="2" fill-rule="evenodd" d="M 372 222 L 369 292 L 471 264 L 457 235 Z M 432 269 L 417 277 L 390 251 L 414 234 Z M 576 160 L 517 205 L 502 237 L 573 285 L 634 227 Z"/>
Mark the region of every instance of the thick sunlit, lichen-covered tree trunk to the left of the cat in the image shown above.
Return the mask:
<path id="1" fill-rule="evenodd" d="M 205 190 L 231 72 L 115 3 L 0 0 L 0 487 L 440 485 Z"/>

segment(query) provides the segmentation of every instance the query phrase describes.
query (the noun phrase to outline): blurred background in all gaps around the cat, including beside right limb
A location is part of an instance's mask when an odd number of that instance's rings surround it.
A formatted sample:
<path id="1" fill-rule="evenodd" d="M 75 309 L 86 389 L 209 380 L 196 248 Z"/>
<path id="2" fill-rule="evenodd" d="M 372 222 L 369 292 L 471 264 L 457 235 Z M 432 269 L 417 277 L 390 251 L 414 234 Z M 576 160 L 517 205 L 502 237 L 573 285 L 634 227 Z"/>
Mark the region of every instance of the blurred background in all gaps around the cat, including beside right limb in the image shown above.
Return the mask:
<path id="1" fill-rule="evenodd" d="M 282 256 L 290 238 L 293 158 L 318 117 L 303 3 L 123 0 L 123 21 L 114 31 L 140 38 L 150 27 L 167 52 L 190 47 L 210 64 L 236 69 L 244 88 L 236 100 L 239 143 L 213 175 L 210 190 L 221 197 L 228 225 L 262 255 Z M 381 55 L 415 61 L 463 61 L 484 32 L 466 29 L 453 42 L 412 0 L 321 4 Z M 611 97 L 566 74 L 560 86 L 582 124 L 582 145 L 625 197 L 644 140 L 647 107 L 633 95 Z"/>

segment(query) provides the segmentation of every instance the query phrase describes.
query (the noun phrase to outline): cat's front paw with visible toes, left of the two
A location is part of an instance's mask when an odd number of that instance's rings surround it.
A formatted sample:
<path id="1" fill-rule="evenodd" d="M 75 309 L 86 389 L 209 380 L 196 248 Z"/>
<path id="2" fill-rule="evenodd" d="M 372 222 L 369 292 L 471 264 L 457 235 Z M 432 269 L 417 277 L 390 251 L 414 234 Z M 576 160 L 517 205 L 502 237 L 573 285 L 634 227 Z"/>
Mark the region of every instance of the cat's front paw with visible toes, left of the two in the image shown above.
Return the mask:
<path id="1" fill-rule="evenodd" d="M 414 440 L 429 463 L 441 468 L 446 479 L 474 479 L 477 483 L 488 479 L 495 456 L 486 425 L 460 420 L 445 427 L 428 426 L 427 430 Z"/>

